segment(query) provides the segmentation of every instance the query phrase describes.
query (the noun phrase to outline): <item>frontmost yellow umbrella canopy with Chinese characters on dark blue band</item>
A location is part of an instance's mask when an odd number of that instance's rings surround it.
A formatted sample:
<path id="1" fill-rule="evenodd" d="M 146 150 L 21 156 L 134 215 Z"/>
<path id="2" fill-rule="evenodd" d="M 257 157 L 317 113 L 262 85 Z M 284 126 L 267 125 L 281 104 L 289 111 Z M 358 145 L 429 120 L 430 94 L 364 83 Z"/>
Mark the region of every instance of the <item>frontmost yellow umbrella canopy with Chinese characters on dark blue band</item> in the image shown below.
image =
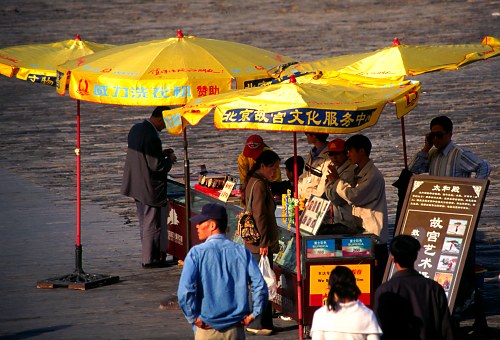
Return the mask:
<path id="1" fill-rule="evenodd" d="M 396 103 L 397 116 L 412 110 L 420 83 L 378 80 L 367 85 L 363 77 L 304 76 L 290 82 L 236 90 L 197 98 L 182 108 L 164 111 L 167 130 L 182 132 L 183 122 L 196 125 L 214 111 L 219 129 L 353 133 L 376 124 L 387 102 Z M 364 85 L 362 83 L 365 83 Z"/>

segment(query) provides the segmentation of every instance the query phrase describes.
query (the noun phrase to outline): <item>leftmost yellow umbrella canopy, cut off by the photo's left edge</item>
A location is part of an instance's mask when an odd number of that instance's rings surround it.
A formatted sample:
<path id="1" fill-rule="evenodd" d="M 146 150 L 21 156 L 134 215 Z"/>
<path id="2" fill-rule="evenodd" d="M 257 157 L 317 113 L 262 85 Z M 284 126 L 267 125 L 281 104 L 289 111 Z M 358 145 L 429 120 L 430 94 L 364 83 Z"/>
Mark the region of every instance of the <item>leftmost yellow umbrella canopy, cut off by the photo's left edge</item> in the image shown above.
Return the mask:
<path id="1" fill-rule="evenodd" d="M 57 65 L 114 46 L 84 41 L 77 35 L 50 44 L 7 47 L 0 49 L 0 74 L 55 86 Z"/>

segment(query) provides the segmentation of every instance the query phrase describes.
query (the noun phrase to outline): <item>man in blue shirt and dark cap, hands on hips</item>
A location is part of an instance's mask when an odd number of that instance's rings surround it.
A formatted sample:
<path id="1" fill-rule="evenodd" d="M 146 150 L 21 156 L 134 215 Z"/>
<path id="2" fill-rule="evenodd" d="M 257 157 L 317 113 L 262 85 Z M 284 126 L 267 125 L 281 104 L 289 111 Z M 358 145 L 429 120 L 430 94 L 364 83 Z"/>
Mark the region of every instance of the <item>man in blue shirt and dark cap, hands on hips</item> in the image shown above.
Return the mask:
<path id="1" fill-rule="evenodd" d="M 193 324 L 195 339 L 244 339 L 244 325 L 260 315 L 267 303 L 266 282 L 252 254 L 226 238 L 225 207 L 205 204 L 190 221 L 205 242 L 191 248 L 184 260 L 179 306 Z"/>

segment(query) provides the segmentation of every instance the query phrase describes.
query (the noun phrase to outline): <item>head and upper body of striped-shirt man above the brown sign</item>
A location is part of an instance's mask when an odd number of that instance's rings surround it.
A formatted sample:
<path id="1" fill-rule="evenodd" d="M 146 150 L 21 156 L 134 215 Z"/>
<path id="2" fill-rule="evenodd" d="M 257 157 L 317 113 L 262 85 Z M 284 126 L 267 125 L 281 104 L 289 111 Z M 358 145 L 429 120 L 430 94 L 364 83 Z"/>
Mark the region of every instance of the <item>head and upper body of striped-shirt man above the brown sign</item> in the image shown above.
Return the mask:
<path id="1" fill-rule="evenodd" d="M 446 116 L 431 120 L 431 131 L 425 136 L 425 144 L 410 163 L 414 174 L 429 173 L 431 176 L 488 178 L 491 166 L 466 148 L 456 145 L 453 122 Z M 433 148 L 434 146 L 434 148 Z"/>

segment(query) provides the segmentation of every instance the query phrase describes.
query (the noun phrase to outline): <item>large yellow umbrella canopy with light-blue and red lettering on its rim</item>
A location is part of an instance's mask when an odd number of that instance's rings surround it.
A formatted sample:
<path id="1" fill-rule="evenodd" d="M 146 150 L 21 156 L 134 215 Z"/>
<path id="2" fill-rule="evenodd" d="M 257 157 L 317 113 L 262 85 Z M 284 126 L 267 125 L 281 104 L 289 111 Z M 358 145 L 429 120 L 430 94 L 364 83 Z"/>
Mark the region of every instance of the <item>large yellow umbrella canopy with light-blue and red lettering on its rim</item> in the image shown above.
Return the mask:
<path id="1" fill-rule="evenodd" d="M 236 42 L 184 36 L 123 45 L 58 67 L 59 94 L 121 105 L 184 105 L 254 86 L 292 58 Z"/>

